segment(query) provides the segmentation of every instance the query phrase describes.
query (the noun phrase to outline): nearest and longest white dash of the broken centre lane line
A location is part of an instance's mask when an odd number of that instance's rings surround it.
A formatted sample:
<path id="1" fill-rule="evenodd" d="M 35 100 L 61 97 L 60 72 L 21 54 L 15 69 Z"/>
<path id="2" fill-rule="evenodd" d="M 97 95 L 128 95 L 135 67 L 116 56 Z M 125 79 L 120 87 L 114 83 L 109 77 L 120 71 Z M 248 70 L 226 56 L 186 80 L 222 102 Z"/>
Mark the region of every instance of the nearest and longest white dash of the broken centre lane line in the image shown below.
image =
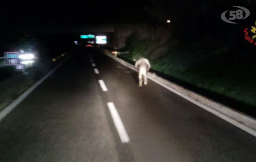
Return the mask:
<path id="1" fill-rule="evenodd" d="M 130 141 L 130 139 L 129 139 L 129 136 L 124 128 L 124 124 L 117 112 L 117 109 L 115 108 L 115 104 L 113 102 L 108 102 L 107 104 L 108 104 L 111 116 L 113 118 L 115 128 L 117 129 L 117 132 L 119 134 L 119 137 L 120 137 L 122 143 L 128 143 Z"/>

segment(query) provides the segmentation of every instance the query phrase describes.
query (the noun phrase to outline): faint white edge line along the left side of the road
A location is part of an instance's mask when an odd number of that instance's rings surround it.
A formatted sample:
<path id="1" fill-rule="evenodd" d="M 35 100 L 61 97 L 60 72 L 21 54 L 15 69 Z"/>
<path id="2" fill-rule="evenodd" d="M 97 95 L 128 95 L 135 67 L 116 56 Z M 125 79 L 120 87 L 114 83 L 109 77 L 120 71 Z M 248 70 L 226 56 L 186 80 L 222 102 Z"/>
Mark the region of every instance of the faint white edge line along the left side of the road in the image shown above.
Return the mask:
<path id="1" fill-rule="evenodd" d="M 6 117 L 21 101 L 23 101 L 38 85 L 40 85 L 45 79 L 47 79 L 56 69 L 58 69 L 66 60 L 70 58 L 71 55 L 69 55 L 65 60 L 60 62 L 55 68 L 53 68 L 51 71 L 49 71 L 43 78 L 41 78 L 39 81 L 34 83 L 28 90 L 26 90 L 23 94 L 21 94 L 16 100 L 14 100 L 11 104 L 9 104 L 7 107 L 5 107 L 0 112 L 0 121 Z"/>

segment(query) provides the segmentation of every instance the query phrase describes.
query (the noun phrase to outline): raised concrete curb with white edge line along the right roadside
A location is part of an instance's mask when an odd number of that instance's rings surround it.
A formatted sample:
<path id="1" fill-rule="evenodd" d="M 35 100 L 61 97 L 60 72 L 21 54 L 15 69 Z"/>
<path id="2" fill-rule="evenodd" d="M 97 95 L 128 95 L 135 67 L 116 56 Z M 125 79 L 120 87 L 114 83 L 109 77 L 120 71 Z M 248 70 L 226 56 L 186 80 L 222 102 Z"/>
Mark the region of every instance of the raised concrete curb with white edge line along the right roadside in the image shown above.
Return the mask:
<path id="1" fill-rule="evenodd" d="M 127 66 L 128 68 L 135 70 L 134 65 L 111 55 L 111 53 L 107 50 L 103 51 L 107 56 L 114 59 L 115 61 Z M 172 83 L 166 79 L 158 77 L 151 72 L 148 72 L 148 78 L 159 85 L 162 85 L 166 89 L 172 91 L 173 93 L 185 98 L 186 100 L 198 105 L 199 107 L 213 113 L 214 115 L 224 119 L 225 121 L 237 126 L 238 128 L 248 132 L 256 137 L 256 119 L 240 113 L 230 107 L 224 106 L 218 102 L 215 102 L 209 98 L 196 94 L 190 90 L 187 90 L 175 83 Z"/>

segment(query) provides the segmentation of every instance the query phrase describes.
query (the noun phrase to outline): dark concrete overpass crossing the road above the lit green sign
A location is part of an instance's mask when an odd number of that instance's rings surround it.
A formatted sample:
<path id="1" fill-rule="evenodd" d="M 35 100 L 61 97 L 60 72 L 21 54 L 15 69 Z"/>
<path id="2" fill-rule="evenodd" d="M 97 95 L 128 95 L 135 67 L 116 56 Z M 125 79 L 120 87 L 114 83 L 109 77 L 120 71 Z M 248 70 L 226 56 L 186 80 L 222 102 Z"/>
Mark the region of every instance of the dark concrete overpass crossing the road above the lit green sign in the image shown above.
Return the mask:
<path id="1" fill-rule="evenodd" d="M 147 23 L 123 23 L 123 24 L 88 24 L 79 27 L 66 26 L 39 26 L 26 27 L 15 30 L 17 33 L 40 34 L 106 34 L 114 49 L 120 49 L 126 45 L 126 38 L 132 33 L 137 33 L 140 38 L 152 38 L 152 26 Z"/>

